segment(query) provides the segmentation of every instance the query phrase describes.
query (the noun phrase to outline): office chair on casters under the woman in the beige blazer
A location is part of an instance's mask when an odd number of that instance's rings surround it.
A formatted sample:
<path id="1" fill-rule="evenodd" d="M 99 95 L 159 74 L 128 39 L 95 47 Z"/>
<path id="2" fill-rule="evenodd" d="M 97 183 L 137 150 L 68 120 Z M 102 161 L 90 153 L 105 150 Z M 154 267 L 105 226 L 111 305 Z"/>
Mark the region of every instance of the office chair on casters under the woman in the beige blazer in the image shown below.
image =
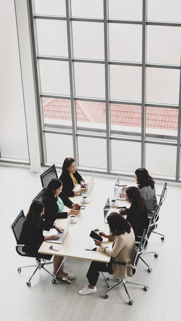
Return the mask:
<path id="1" fill-rule="evenodd" d="M 132 271 L 133 271 L 133 274 L 136 273 L 136 267 L 137 267 L 137 263 L 138 263 L 138 260 L 139 260 L 139 257 L 140 255 L 142 254 L 142 251 L 143 251 L 143 247 L 144 247 L 144 244 L 145 244 L 145 235 L 146 235 L 146 229 L 144 230 L 143 232 L 143 235 L 142 235 L 142 238 L 139 242 L 139 246 L 138 248 L 136 249 L 136 254 L 135 254 L 135 258 L 134 258 L 134 262 L 133 264 L 127 264 L 127 263 L 123 263 L 123 262 L 115 262 L 113 261 L 112 263 L 114 264 L 119 264 L 119 265 L 124 265 L 124 266 L 129 266 L 132 268 Z M 118 287 L 119 285 L 122 285 L 124 286 L 125 288 L 125 291 L 128 295 L 128 298 L 129 298 L 129 305 L 131 306 L 133 304 L 133 300 L 130 298 L 129 296 L 129 293 L 128 293 L 128 290 L 127 290 L 127 287 L 126 287 L 126 284 L 133 284 L 133 285 L 140 285 L 140 286 L 143 286 L 144 287 L 144 291 L 147 291 L 148 290 L 148 287 L 145 285 L 145 284 L 142 284 L 142 283 L 136 283 L 136 282 L 130 282 L 128 281 L 126 278 L 124 277 L 120 277 L 120 278 L 115 278 L 114 276 L 111 276 L 111 275 L 106 275 L 105 272 L 101 272 L 103 274 L 103 277 L 105 279 L 105 281 L 107 282 L 107 286 L 106 288 L 108 289 L 106 292 L 104 292 L 104 298 L 108 298 L 108 291 L 112 290 L 112 289 L 115 289 L 116 287 Z M 132 276 L 132 275 L 131 275 Z M 129 276 L 129 277 L 131 277 Z M 110 286 L 109 284 L 109 280 L 112 279 L 114 281 L 116 281 L 117 283 L 114 285 L 114 286 Z"/>

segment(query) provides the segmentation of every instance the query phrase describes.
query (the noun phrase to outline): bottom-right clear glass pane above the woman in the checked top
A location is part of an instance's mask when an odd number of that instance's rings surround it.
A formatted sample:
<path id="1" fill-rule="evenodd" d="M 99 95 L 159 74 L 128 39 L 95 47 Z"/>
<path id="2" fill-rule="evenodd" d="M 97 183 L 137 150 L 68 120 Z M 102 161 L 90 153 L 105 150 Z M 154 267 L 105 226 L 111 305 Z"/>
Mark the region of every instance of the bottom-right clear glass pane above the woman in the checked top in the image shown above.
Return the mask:
<path id="1" fill-rule="evenodd" d="M 159 157 L 158 157 L 159 155 Z M 168 157 L 170 155 L 171 157 Z M 146 144 L 146 168 L 157 177 L 176 173 L 176 146 Z M 151 175 L 152 176 L 152 175 Z"/>

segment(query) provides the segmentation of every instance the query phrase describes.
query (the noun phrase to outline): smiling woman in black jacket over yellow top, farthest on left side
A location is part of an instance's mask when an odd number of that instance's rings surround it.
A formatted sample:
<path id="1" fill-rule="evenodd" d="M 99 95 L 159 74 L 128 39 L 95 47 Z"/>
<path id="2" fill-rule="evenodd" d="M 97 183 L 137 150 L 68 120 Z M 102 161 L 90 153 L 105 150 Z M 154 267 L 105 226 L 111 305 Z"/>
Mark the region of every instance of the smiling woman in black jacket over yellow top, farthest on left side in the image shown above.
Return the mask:
<path id="1" fill-rule="evenodd" d="M 83 177 L 77 172 L 76 162 L 74 158 L 65 158 L 64 164 L 62 166 L 62 174 L 59 177 L 59 179 L 62 180 L 63 192 L 68 197 L 86 191 L 87 183 L 85 183 Z M 73 191 L 73 188 L 75 187 L 76 183 L 80 184 L 81 187 Z"/>

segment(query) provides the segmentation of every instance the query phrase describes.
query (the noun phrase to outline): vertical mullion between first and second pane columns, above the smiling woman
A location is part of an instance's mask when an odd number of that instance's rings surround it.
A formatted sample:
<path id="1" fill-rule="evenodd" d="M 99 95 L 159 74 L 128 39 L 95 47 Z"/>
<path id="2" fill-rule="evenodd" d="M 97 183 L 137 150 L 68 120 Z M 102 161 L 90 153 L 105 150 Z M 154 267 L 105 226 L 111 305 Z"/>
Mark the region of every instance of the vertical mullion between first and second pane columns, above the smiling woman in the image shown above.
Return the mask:
<path id="1" fill-rule="evenodd" d="M 70 77 L 70 101 L 72 113 L 72 139 L 73 139 L 73 155 L 78 164 L 78 150 L 76 137 L 76 108 L 75 108 L 75 81 L 74 81 L 74 66 L 73 66 L 73 38 L 72 38 L 72 22 L 71 22 L 71 4 L 70 0 L 66 0 L 66 17 L 67 17 L 67 41 L 68 41 L 68 57 L 69 57 L 69 77 Z"/>

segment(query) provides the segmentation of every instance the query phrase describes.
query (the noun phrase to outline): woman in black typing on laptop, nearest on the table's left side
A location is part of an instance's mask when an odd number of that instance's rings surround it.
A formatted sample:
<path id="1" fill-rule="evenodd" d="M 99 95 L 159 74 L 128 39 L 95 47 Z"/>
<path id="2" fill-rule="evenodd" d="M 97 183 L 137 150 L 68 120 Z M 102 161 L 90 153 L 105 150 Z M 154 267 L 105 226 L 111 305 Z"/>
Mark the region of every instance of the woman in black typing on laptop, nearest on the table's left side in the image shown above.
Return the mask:
<path id="1" fill-rule="evenodd" d="M 58 236 L 53 234 L 44 236 L 43 229 L 54 227 L 57 231 L 62 232 L 63 228 L 43 220 L 44 210 L 45 206 L 42 202 L 39 200 L 33 200 L 23 223 L 19 243 L 25 244 L 24 251 L 27 254 L 32 255 L 33 257 L 50 260 L 52 255 L 40 254 L 38 253 L 38 249 L 45 240 L 58 238 Z M 60 278 L 65 282 L 71 283 L 70 279 L 73 279 L 74 276 L 64 272 L 63 265 L 61 266 L 63 258 L 63 256 L 57 255 L 53 257 L 53 274 L 56 275 L 56 278 Z M 61 268 L 59 269 L 60 266 Z"/>

